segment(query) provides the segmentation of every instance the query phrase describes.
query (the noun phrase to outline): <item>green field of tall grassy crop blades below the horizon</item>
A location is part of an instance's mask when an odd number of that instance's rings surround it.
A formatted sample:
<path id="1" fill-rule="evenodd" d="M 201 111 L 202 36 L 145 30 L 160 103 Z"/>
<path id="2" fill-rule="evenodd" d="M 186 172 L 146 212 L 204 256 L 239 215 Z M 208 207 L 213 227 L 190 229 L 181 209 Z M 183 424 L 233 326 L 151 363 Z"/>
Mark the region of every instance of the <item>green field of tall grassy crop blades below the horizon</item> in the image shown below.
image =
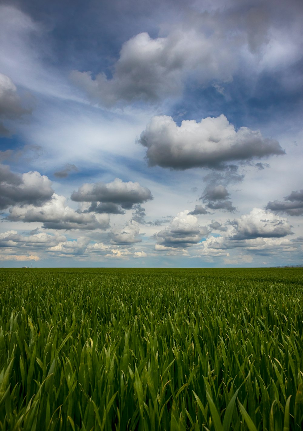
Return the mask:
<path id="1" fill-rule="evenodd" d="M 0 429 L 301 429 L 302 269 L 1 269 L 0 308 Z"/>

